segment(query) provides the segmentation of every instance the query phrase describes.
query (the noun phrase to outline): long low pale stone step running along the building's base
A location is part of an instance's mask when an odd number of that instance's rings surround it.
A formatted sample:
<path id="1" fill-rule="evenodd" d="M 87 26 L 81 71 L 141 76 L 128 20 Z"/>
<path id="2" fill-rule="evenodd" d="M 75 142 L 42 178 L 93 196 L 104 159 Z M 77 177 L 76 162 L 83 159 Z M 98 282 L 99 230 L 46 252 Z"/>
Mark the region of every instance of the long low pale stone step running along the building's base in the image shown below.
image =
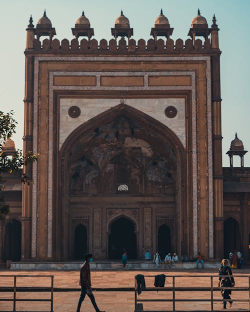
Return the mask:
<path id="1" fill-rule="evenodd" d="M 82 262 L 10 262 L 10 270 L 79 270 Z M 220 262 L 205 262 L 204 269 L 218 269 Z M 121 262 L 100 261 L 90 263 L 91 270 L 122 270 Z M 195 262 L 177 262 L 172 264 L 171 269 L 195 269 Z M 199 269 L 201 269 L 199 264 Z M 159 264 L 159 270 L 164 270 L 164 263 Z M 152 262 L 131 261 L 126 264 L 126 270 L 155 270 Z"/>

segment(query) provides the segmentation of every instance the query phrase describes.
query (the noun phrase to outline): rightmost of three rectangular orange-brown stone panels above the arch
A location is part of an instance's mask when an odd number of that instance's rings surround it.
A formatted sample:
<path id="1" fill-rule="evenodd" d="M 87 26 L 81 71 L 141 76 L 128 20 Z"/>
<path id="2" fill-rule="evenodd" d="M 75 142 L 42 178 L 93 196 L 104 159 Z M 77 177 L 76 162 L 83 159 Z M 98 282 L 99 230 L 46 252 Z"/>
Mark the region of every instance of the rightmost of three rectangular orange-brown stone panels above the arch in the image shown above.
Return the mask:
<path id="1" fill-rule="evenodd" d="M 191 76 L 148 76 L 149 86 L 191 85 Z"/>

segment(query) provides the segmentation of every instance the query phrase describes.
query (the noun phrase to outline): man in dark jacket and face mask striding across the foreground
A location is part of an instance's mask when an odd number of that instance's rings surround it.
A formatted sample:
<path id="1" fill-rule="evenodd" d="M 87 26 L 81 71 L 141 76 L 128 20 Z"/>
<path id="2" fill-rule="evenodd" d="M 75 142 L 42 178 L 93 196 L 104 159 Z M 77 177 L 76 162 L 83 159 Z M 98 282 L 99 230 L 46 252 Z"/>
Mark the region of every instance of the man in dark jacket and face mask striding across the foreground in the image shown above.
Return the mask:
<path id="1" fill-rule="evenodd" d="M 76 312 L 80 312 L 80 306 L 83 302 L 86 294 L 90 298 L 91 303 L 95 309 L 96 312 L 105 312 L 100 311 L 96 305 L 92 289 L 91 289 L 91 280 L 90 280 L 90 269 L 89 269 L 89 262 L 93 261 L 93 257 L 91 254 L 86 254 L 85 256 L 85 262 L 83 263 L 81 269 L 80 269 L 80 286 L 81 286 L 81 293 L 80 298 L 78 301 Z"/>

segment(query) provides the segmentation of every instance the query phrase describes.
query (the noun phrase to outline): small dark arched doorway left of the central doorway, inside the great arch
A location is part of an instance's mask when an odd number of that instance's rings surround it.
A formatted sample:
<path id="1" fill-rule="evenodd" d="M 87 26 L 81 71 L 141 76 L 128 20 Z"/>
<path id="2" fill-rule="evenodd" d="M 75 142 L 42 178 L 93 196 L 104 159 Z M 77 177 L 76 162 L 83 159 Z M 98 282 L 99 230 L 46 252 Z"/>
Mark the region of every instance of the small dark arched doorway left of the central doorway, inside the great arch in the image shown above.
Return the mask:
<path id="1" fill-rule="evenodd" d="M 87 253 L 87 230 L 82 224 L 74 229 L 74 260 L 84 260 Z"/>

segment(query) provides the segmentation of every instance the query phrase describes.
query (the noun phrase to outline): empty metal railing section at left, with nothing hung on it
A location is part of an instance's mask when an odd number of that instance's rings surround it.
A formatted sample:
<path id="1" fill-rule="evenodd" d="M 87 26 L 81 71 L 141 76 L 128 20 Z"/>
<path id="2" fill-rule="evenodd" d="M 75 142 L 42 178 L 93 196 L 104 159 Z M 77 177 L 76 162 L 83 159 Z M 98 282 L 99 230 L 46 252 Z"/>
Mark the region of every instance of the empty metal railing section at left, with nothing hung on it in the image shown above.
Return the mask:
<path id="1" fill-rule="evenodd" d="M 0 287 L 0 292 L 1 293 L 12 293 L 13 292 L 13 298 L 0 298 L 0 302 L 1 301 L 8 301 L 8 302 L 13 302 L 13 312 L 16 312 L 16 302 L 50 302 L 50 312 L 53 312 L 53 291 L 54 291 L 54 276 L 53 275 L 0 275 L 0 278 L 13 278 L 13 287 L 5 287 L 5 286 L 1 286 Z M 18 287 L 17 286 L 17 278 L 19 280 L 19 278 L 50 278 L 50 286 L 49 287 Z M 38 284 L 38 283 L 37 283 Z M 33 292 L 35 290 L 35 292 L 50 292 L 50 299 L 17 299 L 16 298 L 16 293 L 19 292 Z M 38 312 L 38 311 L 37 311 Z"/>

